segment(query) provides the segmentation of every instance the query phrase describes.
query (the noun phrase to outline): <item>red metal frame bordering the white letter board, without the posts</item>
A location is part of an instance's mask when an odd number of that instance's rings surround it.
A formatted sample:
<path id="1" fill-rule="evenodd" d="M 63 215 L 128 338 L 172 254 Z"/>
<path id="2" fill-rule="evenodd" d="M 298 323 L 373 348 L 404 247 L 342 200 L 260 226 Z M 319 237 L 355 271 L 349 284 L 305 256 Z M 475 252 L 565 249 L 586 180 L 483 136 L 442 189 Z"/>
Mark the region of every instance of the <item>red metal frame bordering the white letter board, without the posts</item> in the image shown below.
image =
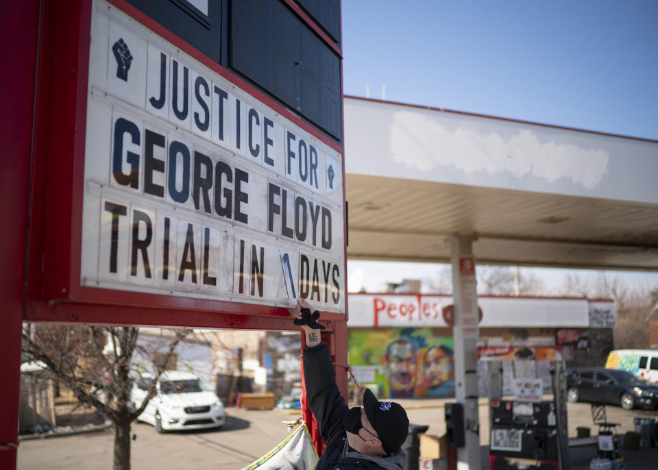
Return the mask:
<path id="1" fill-rule="evenodd" d="M 285 0 L 288 4 L 289 2 Z M 174 36 L 123 0 L 109 0 L 113 7 L 141 23 L 180 51 L 202 62 L 265 106 L 308 132 L 341 155 L 343 147 L 324 136 L 315 127 L 282 108 L 278 103 L 219 66 L 206 55 Z M 39 84 L 45 87 L 39 101 L 37 120 L 47 123 L 49 132 L 36 134 L 37 151 L 32 169 L 32 208 L 27 263 L 27 304 L 25 321 L 116 323 L 131 325 L 167 325 L 181 327 L 217 327 L 258 330 L 290 330 L 290 319 L 283 303 L 269 306 L 245 302 L 202 299 L 177 295 L 134 292 L 81 286 L 82 216 L 88 69 L 90 58 L 90 1 L 46 5 L 42 18 Z M 297 11 L 298 8 L 295 8 Z M 298 12 L 300 13 L 300 12 Z M 302 12 L 303 13 L 303 12 Z M 45 16 L 44 15 L 44 16 Z M 52 16 L 50 17 L 52 18 Z M 308 21 L 308 18 L 306 18 Z M 312 22 L 309 23 L 317 29 Z M 319 29 L 321 36 L 326 36 Z M 50 42 L 48 39 L 52 38 Z M 333 45 L 332 47 L 335 48 Z M 53 60 L 50 64 L 50 60 Z M 341 71 L 342 75 L 342 71 Z M 40 86 L 37 87 L 40 89 Z M 343 165 L 344 182 L 344 165 Z M 345 187 L 343 185 L 343 220 Z M 42 206 L 39 205 L 42 203 Z M 343 223 L 343 237 L 347 226 Z M 43 264 L 40 263 L 42 249 Z M 343 247 L 343 280 L 346 283 L 347 250 Z M 346 295 L 346 291 L 345 291 Z M 46 300 L 44 300 L 46 299 Z M 347 321 L 345 314 L 327 313 L 323 321 Z M 330 329 L 332 329 L 330 325 Z"/>

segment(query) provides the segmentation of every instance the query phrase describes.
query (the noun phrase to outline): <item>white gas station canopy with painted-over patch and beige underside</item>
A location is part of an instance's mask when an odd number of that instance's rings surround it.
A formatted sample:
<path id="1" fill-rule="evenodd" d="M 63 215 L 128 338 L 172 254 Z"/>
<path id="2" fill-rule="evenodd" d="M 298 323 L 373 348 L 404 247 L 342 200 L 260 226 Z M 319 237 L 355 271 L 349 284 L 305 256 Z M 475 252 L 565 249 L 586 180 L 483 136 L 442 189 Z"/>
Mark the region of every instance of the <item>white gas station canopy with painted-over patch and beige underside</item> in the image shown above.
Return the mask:
<path id="1" fill-rule="evenodd" d="M 658 271 L 658 142 L 345 97 L 348 258 Z"/>

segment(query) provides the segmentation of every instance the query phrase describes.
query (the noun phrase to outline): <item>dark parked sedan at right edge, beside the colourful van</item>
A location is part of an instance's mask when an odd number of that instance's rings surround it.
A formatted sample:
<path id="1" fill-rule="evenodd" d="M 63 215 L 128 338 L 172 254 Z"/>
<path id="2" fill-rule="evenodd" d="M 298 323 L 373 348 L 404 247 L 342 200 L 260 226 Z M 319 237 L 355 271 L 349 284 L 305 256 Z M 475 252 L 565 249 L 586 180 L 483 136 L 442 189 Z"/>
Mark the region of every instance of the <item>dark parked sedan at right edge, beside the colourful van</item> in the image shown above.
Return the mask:
<path id="1" fill-rule="evenodd" d="M 613 404 L 626 410 L 657 408 L 658 386 L 626 371 L 574 369 L 567 375 L 567 399 Z"/>

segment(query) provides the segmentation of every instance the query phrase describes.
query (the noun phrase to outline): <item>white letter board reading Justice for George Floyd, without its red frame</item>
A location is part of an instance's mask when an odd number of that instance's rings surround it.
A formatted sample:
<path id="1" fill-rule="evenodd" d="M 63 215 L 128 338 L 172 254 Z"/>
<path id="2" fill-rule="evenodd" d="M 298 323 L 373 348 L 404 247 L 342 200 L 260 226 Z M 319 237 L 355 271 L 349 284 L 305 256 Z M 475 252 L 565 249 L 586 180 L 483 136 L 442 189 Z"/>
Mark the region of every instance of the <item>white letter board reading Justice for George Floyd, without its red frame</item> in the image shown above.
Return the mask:
<path id="1" fill-rule="evenodd" d="M 82 285 L 264 305 L 301 297 L 344 312 L 342 175 L 341 153 L 95 2 Z"/>

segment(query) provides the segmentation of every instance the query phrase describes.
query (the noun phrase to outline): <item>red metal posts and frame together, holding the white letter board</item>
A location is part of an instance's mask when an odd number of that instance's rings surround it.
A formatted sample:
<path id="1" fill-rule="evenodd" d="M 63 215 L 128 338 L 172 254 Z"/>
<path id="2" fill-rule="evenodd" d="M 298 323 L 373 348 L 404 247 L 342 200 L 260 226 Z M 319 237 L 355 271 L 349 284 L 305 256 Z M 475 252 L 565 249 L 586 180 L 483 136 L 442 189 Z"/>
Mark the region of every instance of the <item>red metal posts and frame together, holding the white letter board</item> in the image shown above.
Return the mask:
<path id="1" fill-rule="evenodd" d="M 340 49 L 292 0 L 281 0 L 329 47 Z M 109 0 L 151 32 L 169 41 L 204 67 L 217 73 L 308 132 L 326 147 L 343 147 L 285 110 L 253 86 L 221 68 L 124 0 Z M 154 293 L 81 286 L 82 201 L 86 140 L 86 100 L 92 1 L 25 0 L 0 7 L 12 38 L 8 61 L 8 116 L 5 125 L 6 169 L 3 191 L 7 225 L 3 232 L 3 313 L 0 373 L 0 467 L 16 467 L 19 445 L 21 322 L 114 325 L 162 325 L 219 329 L 300 330 L 284 306 L 164 296 Z M 342 72 L 341 72 L 342 76 Z M 342 103 L 341 103 L 342 107 Z M 342 124 L 341 124 L 342 125 Z M 342 134 L 342 133 L 341 133 Z M 344 181 L 344 169 L 343 169 Z M 343 203 L 345 190 L 343 187 Z M 343 218 L 345 206 L 343 205 Z M 343 236 L 346 235 L 343 223 Z M 346 238 L 346 237 L 345 237 Z M 343 272 L 346 268 L 343 247 Z M 345 280 L 346 285 L 346 280 Z M 323 341 L 337 364 L 347 363 L 348 308 L 323 315 Z M 347 374 L 337 367 L 337 383 L 346 397 Z M 317 449 L 321 439 L 307 404 L 304 417 Z"/>

